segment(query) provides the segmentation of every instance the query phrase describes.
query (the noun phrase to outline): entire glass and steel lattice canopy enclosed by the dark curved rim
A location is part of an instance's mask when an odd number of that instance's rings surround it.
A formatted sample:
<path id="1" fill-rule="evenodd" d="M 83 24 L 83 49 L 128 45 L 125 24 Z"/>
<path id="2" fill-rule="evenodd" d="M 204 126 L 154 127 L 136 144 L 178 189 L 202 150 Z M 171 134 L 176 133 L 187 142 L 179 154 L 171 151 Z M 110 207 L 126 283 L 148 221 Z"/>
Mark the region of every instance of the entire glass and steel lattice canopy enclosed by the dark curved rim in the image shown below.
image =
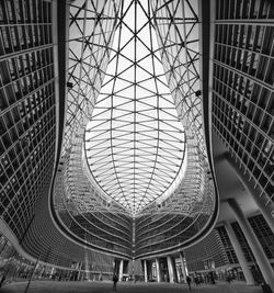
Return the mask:
<path id="1" fill-rule="evenodd" d="M 216 211 L 197 0 L 76 0 L 68 10 L 56 214 L 72 237 L 123 256 L 195 240 Z"/>

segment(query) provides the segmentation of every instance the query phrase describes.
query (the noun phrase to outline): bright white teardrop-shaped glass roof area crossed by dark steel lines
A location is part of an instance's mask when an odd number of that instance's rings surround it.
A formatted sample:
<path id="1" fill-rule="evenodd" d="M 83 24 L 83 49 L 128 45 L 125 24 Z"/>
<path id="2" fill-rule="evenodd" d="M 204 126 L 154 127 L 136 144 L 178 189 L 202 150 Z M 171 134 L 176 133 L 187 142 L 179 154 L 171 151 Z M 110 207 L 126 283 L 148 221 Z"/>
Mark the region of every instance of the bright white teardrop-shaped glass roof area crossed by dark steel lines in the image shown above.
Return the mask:
<path id="1" fill-rule="evenodd" d="M 87 126 L 85 154 L 100 189 L 136 215 L 180 183 L 185 134 L 148 3 L 123 3 L 104 83 Z"/>

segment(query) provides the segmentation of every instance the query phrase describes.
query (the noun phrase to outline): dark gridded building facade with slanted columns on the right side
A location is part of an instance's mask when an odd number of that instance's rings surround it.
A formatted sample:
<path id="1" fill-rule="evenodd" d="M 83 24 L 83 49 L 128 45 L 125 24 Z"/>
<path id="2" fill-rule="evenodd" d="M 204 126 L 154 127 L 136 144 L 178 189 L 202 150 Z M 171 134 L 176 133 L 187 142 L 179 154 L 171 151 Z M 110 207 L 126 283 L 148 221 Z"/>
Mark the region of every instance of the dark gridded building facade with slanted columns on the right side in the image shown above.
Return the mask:
<path id="1" fill-rule="evenodd" d="M 248 283 L 273 286 L 273 3 L 216 1 L 212 11 L 217 232 L 230 267 L 236 256 Z"/>

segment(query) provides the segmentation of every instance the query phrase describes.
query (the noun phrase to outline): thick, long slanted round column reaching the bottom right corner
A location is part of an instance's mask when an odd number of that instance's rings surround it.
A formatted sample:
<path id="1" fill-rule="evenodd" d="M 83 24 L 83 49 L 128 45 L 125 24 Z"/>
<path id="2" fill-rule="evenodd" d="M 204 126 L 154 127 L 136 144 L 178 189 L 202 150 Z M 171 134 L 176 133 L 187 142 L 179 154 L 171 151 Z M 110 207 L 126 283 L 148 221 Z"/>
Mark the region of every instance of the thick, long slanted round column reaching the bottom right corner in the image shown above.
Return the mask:
<path id="1" fill-rule="evenodd" d="M 230 205 L 231 210 L 233 211 L 235 217 L 238 221 L 248 243 L 249 246 L 254 255 L 258 266 L 261 269 L 261 272 L 265 279 L 265 282 L 271 286 L 272 291 L 274 291 L 274 271 L 271 267 L 271 263 L 264 251 L 252 230 L 248 219 L 246 218 L 242 210 L 240 209 L 239 204 L 235 199 L 229 199 L 228 204 Z"/>

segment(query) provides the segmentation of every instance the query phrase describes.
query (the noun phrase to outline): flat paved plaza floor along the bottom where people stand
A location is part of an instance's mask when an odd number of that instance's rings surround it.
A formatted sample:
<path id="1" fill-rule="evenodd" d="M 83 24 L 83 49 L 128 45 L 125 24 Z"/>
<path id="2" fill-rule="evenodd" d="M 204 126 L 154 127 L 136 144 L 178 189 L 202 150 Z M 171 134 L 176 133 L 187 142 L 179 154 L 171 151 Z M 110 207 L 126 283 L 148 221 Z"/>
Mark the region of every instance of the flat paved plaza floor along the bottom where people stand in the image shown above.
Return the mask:
<path id="1" fill-rule="evenodd" d="M 4 284 L 0 293 L 24 293 L 27 282 Z M 110 293 L 112 283 L 103 282 L 59 282 L 59 281 L 33 281 L 27 293 Z M 192 284 L 190 291 L 187 284 L 170 283 L 117 283 L 117 292 L 125 293 L 262 293 L 261 286 L 248 286 L 243 282 L 235 281 L 231 284 L 217 282 L 215 285 Z"/>

